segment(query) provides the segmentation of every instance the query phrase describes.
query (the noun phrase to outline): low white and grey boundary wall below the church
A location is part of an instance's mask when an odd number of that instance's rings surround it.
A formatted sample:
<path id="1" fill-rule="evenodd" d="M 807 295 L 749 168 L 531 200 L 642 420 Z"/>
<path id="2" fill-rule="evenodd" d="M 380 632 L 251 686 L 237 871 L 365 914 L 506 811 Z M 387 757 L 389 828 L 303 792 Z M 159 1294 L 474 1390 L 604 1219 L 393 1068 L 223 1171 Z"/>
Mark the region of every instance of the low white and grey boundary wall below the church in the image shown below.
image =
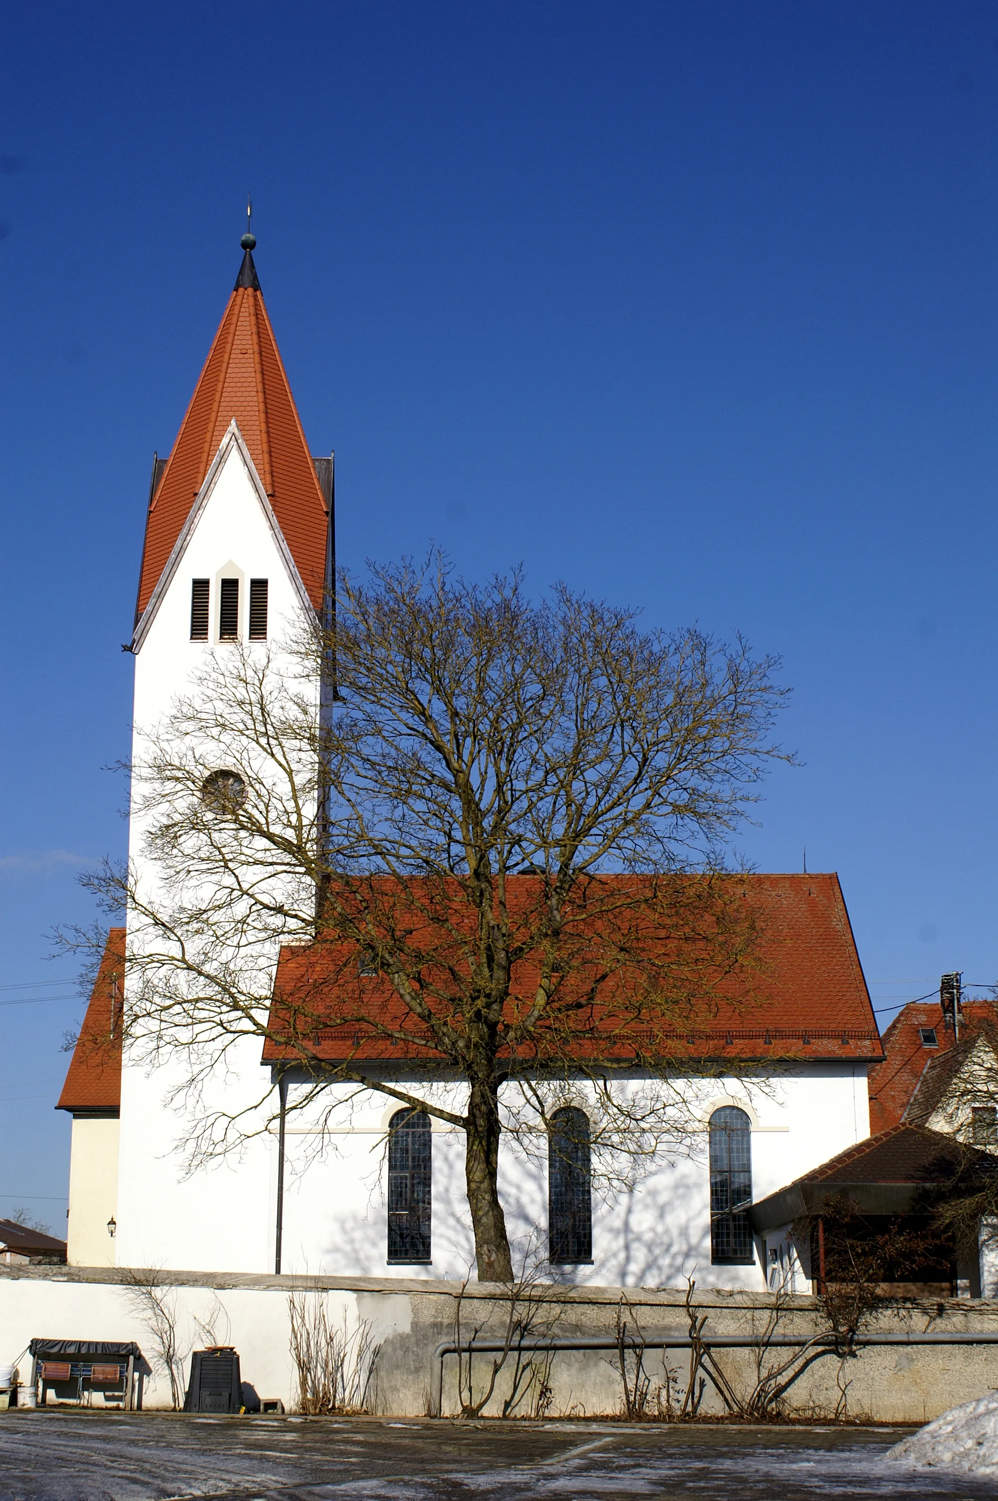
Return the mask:
<path id="1" fill-rule="evenodd" d="M 372 1369 L 368 1406 L 399 1417 L 425 1415 L 431 1403 L 437 1349 L 455 1333 L 459 1298 L 465 1328 L 480 1325 L 483 1336 L 501 1333 L 507 1304 L 497 1291 L 471 1285 L 464 1294 L 458 1283 L 401 1279 L 251 1277 L 161 1273 L 167 1303 L 176 1312 L 185 1378 L 189 1351 L 206 1343 L 206 1330 L 222 1343 L 233 1343 L 242 1357 L 243 1379 L 261 1397 L 281 1397 L 288 1408 L 297 1402 L 296 1367 L 290 1352 L 288 1298 L 296 1294 L 311 1309 L 324 1301 L 329 1319 L 350 1336 L 365 1327 L 380 1346 Z M 618 1313 L 630 1330 L 647 1339 L 656 1333 L 684 1333 L 687 1319 L 681 1289 L 549 1288 L 537 1330 L 555 1336 L 612 1336 Z M 624 1300 L 624 1301 L 621 1301 Z M 785 1303 L 762 1292 L 704 1291 L 698 1306 L 707 1313 L 707 1333 L 759 1334 L 779 1307 L 779 1333 L 809 1336 L 824 1328 L 821 1310 L 810 1297 Z M 998 1334 L 998 1301 L 912 1303 L 881 1313 L 872 1328 L 881 1331 Z M 0 1268 L 0 1361 L 17 1361 L 35 1336 L 63 1339 L 135 1339 L 153 1367 L 156 1346 L 143 1310 L 141 1294 L 129 1286 L 129 1274 L 105 1268 Z M 480 1357 L 482 1358 L 482 1357 Z M 773 1351 L 771 1358 L 786 1358 Z M 755 1357 L 749 1351 L 719 1355 L 729 1379 L 743 1391 L 753 1381 Z M 20 1360 L 27 1369 L 27 1361 Z M 684 1351 L 665 1355 L 648 1352 L 645 1369 L 653 1387 L 684 1387 L 689 1357 Z M 455 1412 L 458 1360 L 446 1357 L 443 1411 Z M 509 1367 L 507 1367 L 509 1372 Z M 479 1375 L 485 1372 L 479 1367 Z M 623 1387 L 614 1351 L 558 1352 L 540 1372 L 548 1393 L 537 1402 L 536 1382 L 519 1405 L 518 1415 L 609 1415 L 623 1409 Z M 498 1382 L 500 1396 L 503 1382 Z M 881 1346 L 866 1348 L 854 1358 L 822 1355 L 788 1393 L 788 1411 L 797 1415 L 869 1418 L 891 1423 L 923 1423 L 959 1402 L 984 1396 L 998 1387 L 998 1345 Z M 162 1369 L 155 1369 L 146 1387 L 147 1406 L 168 1406 L 170 1387 Z M 495 1409 L 495 1405 L 491 1409 Z M 704 1388 L 701 1414 L 723 1412 L 710 1384 Z"/>

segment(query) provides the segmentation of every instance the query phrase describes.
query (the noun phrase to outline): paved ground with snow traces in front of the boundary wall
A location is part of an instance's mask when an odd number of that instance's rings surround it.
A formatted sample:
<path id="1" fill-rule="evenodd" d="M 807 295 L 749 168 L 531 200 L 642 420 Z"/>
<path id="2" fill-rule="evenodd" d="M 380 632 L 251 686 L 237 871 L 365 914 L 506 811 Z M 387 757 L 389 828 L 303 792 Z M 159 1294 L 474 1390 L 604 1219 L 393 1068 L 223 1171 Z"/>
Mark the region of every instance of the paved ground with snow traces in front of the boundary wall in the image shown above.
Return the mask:
<path id="1" fill-rule="evenodd" d="M 902 1430 L 0 1415 L 0 1501 L 993 1496 L 882 1463 Z"/>

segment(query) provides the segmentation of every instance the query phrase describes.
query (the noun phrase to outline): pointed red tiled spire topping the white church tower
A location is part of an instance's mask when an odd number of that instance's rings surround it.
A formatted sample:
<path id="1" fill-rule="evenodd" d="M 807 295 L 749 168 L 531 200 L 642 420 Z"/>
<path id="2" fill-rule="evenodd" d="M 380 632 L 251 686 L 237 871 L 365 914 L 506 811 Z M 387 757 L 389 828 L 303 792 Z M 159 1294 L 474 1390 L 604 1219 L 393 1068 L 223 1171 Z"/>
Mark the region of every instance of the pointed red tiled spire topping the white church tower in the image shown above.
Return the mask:
<path id="1" fill-rule="evenodd" d="M 236 288 L 149 506 L 137 620 L 233 419 L 308 596 L 317 609 L 323 603 L 329 516 L 260 291 L 251 254 L 255 243 L 251 234 L 243 236 L 246 254 Z"/>

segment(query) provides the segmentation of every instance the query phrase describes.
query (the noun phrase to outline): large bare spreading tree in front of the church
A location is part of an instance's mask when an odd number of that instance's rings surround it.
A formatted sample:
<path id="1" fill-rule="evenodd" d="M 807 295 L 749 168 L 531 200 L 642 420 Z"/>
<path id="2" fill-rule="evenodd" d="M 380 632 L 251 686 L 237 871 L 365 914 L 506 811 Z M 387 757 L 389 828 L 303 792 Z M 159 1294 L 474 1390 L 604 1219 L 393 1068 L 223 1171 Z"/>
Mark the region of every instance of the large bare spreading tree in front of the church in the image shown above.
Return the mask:
<path id="1" fill-rule="evenodd" d="M 752 1001 L 759 916 L 722 872 L 788 760 L 783 690 L 740 639 L 440 558 L 341 575 L 335 618 L 219 648 L 138 747 L 143 869 L 87 877 L 129 911 L 128 1046 L 182 1051 L 197 1094 L 257 1037 L 291 1108 L 339 1084 L 459 1127 L 479 1277 L 510 1283 L 504 1130 L 537 1148 L 582 1079 L 626 1175 L 693 1139 L 683 1076 L 731 1072 L 695 1034 Z M 279 944 L 306 947 L 272 1007 Z M 401 1055 L 425 1087 L 369 1063 Z M 192 1114 L 195 1157 L 264 1129 L 258 1100 Z"/>

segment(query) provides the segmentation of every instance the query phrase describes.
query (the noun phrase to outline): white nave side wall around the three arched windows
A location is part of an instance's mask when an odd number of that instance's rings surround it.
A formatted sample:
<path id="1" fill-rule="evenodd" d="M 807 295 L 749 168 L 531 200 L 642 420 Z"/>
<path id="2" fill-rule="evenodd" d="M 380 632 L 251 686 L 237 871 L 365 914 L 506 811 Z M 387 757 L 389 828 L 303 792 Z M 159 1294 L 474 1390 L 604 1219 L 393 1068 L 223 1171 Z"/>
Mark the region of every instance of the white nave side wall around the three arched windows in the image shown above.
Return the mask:
<path id="1" fill-rule="evenodd" d="M 395 1081 L 401 1088 L 407 1081 Z M 432 1262 L 387 1262 L 386 1129 L 398 1105 L 378 1094 L 330 1087 L 344 1103 L 320 1130 L 318 1111 L 291 1111 L 285 1150 L 282 1271 L 326 1276 L 462 1279 L 474 1265 L 464 1192 L 464 1135 L 432 1127 Z M 416 1090 L 419 1093 L 419 1090 Z M 591 1091 L 579 1085 L 579 1102 Z M 659 1151 L 630 1189 L 600 1181 L 594 1154 L 593 1264 L 549 1267 L 545 1261 L 548 1186 L 542 1136 L 524 1150 L 507 1135 L 500 1156 L 500 1193 L 516 1265 L 540 1259 L 545 1280 L 585 1286 L 677 1286 L 695 1276 L 704 1288 L 765 1285 L 753 1265 L 711 1265 L 707 1123 L 719 1105 L 740 1105 L 752 1127 L 753 1198 L 791 1183 L 869 1135 L 866 1079 L 852 1064 L 798 1066 L 774 1081 L 690 1081 L 702 1135 L 692 1153 Z M 294 1100 L 294 1085 L 291 1087 Z M 461 1109 L 458 1087 L 434 1094 Z"/>

